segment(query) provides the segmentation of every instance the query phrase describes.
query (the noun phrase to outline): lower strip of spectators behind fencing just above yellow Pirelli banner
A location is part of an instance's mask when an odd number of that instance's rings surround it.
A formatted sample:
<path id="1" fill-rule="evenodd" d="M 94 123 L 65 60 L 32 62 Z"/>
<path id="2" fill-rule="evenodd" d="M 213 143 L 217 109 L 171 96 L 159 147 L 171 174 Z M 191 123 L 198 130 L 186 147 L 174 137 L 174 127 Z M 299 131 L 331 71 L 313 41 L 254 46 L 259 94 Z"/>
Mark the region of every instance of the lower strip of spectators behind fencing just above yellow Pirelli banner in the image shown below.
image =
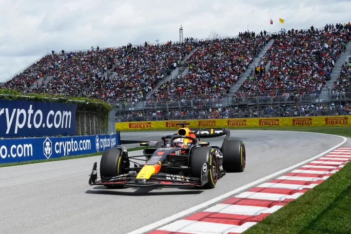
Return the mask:
<path id="1" fill-rule="evenodd" d="M 338 116 L 351 115 L 351 103 L 340 105 L 331 102 L 323 104 L 292 104 L 215 108 L 215 109 L 182 109 L 137 111 L 116 116 L 117 122 L 158 121 L 180 119 L 218 119 L 218 118 L 247 118 L 247 117 L 309 117 L 309 116 Z"/>

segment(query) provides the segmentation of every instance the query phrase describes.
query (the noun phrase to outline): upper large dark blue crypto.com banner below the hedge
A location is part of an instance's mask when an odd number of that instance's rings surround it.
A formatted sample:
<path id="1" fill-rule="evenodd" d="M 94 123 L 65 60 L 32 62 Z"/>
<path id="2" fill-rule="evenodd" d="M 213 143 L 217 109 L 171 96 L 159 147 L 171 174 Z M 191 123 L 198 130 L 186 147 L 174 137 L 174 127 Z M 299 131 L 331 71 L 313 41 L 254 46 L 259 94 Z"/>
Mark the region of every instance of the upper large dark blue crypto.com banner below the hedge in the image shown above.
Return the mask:
<path id="1" fill-rule="evenodd" d="M 76 134 L 77 104 L 0 99 L 0 137 Z"/>

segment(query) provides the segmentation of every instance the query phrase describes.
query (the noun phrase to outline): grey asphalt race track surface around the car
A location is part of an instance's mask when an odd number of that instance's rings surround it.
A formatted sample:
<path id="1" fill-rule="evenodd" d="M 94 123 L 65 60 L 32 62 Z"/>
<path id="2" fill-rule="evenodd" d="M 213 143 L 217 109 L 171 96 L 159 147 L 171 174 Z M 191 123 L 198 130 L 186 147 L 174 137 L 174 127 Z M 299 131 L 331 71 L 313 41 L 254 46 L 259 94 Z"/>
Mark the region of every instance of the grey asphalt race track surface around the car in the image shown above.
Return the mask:
<path id="1" fill-rule="evenodd" d="M 158 141 L 173 132 L 121 133 L 124 140 Z M 221 145 L 224 137 L 212 138 Z M 232 131 L 246 144 L 247 167 L 227 174 L 215 189 L 105 189 L 89 186 L 100 156 L 0 168 L 3 234 L 127 234 L 264 176 L 316 156 L 341 137 L 284 131 Z M 350 143 L 344 144 L 350 145 Z M 141 154 L 131 152 L 130 155 Z M 99 165 L 98 165 L 99 166 Z"/>

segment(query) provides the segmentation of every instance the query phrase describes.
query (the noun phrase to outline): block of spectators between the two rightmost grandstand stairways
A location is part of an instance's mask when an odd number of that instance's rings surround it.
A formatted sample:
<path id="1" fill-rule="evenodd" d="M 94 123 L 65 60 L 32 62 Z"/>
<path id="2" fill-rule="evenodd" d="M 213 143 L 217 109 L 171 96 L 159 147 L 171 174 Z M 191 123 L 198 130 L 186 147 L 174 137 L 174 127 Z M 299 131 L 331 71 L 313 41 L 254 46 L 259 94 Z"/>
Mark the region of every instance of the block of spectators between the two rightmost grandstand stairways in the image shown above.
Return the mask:
<path id="1" fill-rule="evenodd" d="M 254 74 L 234 97 L 284 96 L 316 93 L 330 79 L 336 59 L 346 50 L 350 33 L 346 30 L 289 30 L 276 39 L 262 58 L 270 60 L 265 74 Z M 278 91 L 279 90 L 279 91 Z"/>

